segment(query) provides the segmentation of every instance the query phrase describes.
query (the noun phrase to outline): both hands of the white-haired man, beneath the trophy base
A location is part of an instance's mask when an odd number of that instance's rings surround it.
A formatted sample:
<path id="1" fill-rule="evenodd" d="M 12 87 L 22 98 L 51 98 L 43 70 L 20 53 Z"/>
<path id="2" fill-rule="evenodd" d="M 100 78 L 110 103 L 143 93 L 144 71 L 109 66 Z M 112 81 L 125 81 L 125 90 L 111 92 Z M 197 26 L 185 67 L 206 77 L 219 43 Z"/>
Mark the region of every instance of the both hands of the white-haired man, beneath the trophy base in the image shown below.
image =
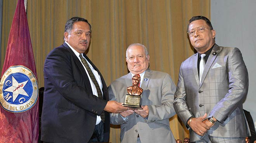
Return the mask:
<path id="1" fill-rule="evenodd" d="M 142 117 L 148 117 L 149 116 L 149 107 L 147 105 L 145 106 L 141 106 L 141 109 L 138 109 L 138 110 L 132 110 L 132 109 L 128 109 L 127 111 L 123 111 L 121 112 L 120 114 L 123 116 L 123 117 L 127 117 L 131 114 L 133 114 L 133 112 L 139 114 L 140 116 Z"/>

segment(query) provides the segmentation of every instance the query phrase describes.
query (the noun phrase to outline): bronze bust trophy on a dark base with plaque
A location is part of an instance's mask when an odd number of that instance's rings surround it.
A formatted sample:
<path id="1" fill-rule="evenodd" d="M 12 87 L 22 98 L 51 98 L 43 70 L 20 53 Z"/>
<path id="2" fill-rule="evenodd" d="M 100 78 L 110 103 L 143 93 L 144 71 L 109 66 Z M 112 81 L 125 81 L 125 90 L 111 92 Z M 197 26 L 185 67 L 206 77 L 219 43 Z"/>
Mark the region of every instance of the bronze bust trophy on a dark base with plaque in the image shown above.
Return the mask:
<path id="1" fill-rule="evenodd" d="M 125 104 L 123 106 L 129 107 L 132 110 L 140 109 L 141 107 L 141 94 L 143 89 L 140 88 L 140 75 L 134 75 L 132 78 L 132 86 L 127 88 L 128 94 L 125 95 Z"/>

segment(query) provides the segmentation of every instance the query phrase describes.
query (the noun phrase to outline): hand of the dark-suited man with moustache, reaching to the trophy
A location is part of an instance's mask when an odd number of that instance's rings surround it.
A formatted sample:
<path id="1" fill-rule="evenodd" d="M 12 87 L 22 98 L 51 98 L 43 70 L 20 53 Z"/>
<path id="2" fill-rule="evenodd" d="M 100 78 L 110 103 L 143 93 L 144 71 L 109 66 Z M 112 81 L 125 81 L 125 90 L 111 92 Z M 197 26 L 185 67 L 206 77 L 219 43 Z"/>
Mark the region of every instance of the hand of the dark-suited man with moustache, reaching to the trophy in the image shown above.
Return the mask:
<path id="1" fill-rule="evenodd" d="M 110 112 L 110 113 L 120 113 L 123 111 L 129 110 L 128 107 L 122 106 L 123 103 L 119 103 L 116 101 L 108 101 L 107 105 L 104 108 L 104 111 Z"/>

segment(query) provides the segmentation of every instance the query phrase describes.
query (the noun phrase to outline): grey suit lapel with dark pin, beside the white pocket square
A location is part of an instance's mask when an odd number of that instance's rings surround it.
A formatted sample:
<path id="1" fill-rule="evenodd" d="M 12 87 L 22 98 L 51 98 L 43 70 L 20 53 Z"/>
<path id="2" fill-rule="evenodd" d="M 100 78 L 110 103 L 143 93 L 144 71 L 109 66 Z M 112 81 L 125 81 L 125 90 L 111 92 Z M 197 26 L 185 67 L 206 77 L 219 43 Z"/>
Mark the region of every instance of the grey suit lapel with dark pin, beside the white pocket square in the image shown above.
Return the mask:
<path id="1" fill-rule="evenodd" d="M 204 66 L 204 72 L 202 74 L 200 87 L 202 86 L 202 83 L 204 82 L 204 79 L 207 73 L 209 72 L 211 66 L 213 65 L 214 60 L 216 59 L 217 55 L 220 53 L 221 49 L 222 48 L 220 48 L 220 46 L 218 46 L 217 44 L 214 44 L 213 50 L 211 51 L 211 54 L 209 55 L 206 65 Z"/>

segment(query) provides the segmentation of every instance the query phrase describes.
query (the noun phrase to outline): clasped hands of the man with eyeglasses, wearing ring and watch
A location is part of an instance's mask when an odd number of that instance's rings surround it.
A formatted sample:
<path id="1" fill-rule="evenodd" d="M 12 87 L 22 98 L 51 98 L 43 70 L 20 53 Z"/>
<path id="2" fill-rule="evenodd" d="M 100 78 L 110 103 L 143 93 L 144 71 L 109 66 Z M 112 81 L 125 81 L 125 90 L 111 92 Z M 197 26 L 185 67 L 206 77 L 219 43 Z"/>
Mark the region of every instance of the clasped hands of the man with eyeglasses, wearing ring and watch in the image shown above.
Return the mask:
<path id="1" fill-rule="evenodd" d="M 194 117 L 190 121 L 190 128 L 199 136 L 204 136 L 204 134 L 206 134 L 207 131 L 214 125 L 210 121 L 208 121 L 206 117 L 207 113 L 205 113 L 204 116 L 201 117 Z"/>

